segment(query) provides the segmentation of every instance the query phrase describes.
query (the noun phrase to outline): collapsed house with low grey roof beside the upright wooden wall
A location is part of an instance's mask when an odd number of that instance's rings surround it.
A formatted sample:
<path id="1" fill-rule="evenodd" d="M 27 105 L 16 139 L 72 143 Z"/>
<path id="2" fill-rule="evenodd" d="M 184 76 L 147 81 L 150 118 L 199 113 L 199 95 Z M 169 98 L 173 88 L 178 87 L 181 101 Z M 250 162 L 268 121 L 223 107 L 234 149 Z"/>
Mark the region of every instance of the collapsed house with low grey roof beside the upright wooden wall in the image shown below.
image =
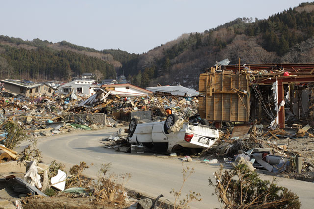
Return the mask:
<path id="1" fill-rule="evenodd" d="M 184 86 L 155 86 L 155 87 L 147 87 L 149 91 L 160 95 L 173 95 L 173 96 L 198 96 L 199 92 L 195 89 L 190 89 Z"/>

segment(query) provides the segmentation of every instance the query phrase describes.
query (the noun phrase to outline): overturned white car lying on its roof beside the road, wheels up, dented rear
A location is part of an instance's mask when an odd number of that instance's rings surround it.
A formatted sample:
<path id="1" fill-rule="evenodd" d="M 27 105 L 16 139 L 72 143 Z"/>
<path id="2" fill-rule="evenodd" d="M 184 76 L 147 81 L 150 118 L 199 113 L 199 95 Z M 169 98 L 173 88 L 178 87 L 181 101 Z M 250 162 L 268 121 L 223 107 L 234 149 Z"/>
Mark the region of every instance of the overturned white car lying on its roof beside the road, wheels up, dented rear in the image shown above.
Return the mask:
<path id="1" fill-rule="evenodd" d="M 140 123 L 131 119 L 128 141 L 131 144 L 156 145 L 163 143 L 167 152 L 176 152 L 181 148 L 194 148 L 199 151 L 210 148 L 218 139 L 218 130 L 206 125 L 189 125 L 179 120 L 175 114 L 168 115 L 165 121 Z"/>

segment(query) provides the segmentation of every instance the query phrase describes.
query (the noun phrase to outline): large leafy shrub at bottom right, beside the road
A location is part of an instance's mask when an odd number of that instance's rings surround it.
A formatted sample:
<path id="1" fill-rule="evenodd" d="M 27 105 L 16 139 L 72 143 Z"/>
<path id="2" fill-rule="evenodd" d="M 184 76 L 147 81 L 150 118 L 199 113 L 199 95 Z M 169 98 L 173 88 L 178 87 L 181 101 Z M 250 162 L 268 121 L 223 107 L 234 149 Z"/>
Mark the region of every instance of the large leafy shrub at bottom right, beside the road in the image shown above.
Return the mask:
<path id="1" fill-rule="evenodd" d="M 209 179 L 209 186 L 215 186 L 215 192 L 225 208 L 233 209 L 299 209 L 299 197 L 287 188 L 277 186 L 274 182 L 262 180 L 246 165 L 238 165 L 223 172 L 222 166 L 214 174 L 216 185 Z"/>

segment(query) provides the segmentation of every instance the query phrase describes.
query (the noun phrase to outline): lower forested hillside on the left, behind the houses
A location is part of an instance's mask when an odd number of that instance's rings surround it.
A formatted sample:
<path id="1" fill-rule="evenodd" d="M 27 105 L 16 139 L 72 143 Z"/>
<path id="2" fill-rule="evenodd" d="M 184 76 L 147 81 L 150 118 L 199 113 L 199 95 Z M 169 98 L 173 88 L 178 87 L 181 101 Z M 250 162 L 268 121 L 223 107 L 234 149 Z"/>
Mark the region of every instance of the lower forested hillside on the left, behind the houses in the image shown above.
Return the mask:
<path id="1" fill-rule="evenodd" d="M 97 79 L 116 78 L 121 62 L 135 55 L 121 50 L 97 51 L 71 44 L 0 36 L 0 78 L 60 80 L 92 72 Z M 121 61 L 121 62 L 120 62 Z"/>

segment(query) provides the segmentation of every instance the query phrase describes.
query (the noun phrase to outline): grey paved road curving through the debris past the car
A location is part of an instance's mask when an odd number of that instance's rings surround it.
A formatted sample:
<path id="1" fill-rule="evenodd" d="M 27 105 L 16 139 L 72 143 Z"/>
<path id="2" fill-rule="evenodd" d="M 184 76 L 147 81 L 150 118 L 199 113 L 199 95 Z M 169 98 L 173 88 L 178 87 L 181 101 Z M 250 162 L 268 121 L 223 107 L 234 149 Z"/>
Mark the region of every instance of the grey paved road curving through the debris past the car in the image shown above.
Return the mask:
<path id="1" fill-rule="evenodd" d="M 45 162 L 56 159 L 70 167 L 85 161 L 93 166 L 85 172 L 90 177 L 96 177 L 102 163 L 112 163 L 111 172 L 131 173 L 132 177 L 126 187 L 144 192 L 152 197 L 160 194 L 165 199 L 173 200 L 169 191 L 179 189 L 182 182 L 182 163 L 177 158 L 152 154 L 131 154 L 115 152 L 105 149 L 100 139 L 114 134 L 118 129 L 103 129 L 99 131 L 86 131 L 57 135 L 38 140 L 39 149 Z M 208 179 L 213 179 L 213 172 L 218 165 L 186 162 L 185 165 L 193 167 L 195 173 L 186 182 L 182 194 L 189 190 L 200 192 L 201 202 L 191 203 L 192 208 L 210 209 L 220 207 L 216 196 L 212 196 L 213 188 L 208 186 Z M 271 176 L 261 175 L 263 179 L 271 180 Z M 302 202 L 302 208 L 313 208 L 314 184 L 310 182 L 277 178 L 278 184 L 288 187 L 297 193 Z"/>

